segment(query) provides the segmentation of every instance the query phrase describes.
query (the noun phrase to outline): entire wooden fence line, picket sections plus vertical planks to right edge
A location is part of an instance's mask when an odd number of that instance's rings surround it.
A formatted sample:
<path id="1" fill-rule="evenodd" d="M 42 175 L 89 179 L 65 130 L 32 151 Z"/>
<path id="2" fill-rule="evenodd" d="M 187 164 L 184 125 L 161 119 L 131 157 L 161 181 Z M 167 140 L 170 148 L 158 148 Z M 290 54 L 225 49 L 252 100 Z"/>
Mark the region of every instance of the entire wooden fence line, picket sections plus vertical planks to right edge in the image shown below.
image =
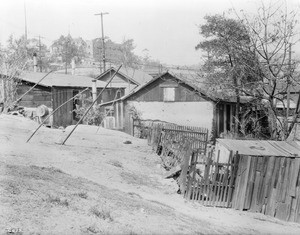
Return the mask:
<path id="1" fill-rule="evenodd" d="M 300 158 L 248 156 L 207 151 L 205 129 L 151 123 L 148 144 L 167 170 L 180 172 L 178 184 L 187 200 L 263 213 L 300 223 Z M 178 170 L 179 169 L 179 170 Z"/>

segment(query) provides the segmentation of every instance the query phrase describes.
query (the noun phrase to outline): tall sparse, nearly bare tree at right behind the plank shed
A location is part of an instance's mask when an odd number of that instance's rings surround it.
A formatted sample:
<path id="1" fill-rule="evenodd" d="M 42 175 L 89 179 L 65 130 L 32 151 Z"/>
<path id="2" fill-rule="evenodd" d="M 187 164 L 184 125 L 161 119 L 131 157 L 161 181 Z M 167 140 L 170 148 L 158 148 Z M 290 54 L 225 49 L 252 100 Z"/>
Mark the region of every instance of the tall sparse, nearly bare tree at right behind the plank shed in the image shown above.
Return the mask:
<path id="1" fill-rule="evenodd" d="M 297 62 L 291 52 L 293 45 L 298 42 L 298 10 L 288 10 L 285 2 L 270 1 L 268 5 L 261 2 L 255 16 L 242 14 L 241 18 L 250 34 L 251 49 L 261 69 L 261 73 L 257 74 L 261 77 L 261 83 L 258 84 L 256 95 L 265 101 L 272 138 L 284 140 L 291 131 L 288 128 L 288 117 L 292 114 L 289 89 L 300 84 L 296 76 Z M 283 105 L 281 112 L 277 108 L 278 103 Z M 293 115 L 298 115 L 297 109 Z"/>

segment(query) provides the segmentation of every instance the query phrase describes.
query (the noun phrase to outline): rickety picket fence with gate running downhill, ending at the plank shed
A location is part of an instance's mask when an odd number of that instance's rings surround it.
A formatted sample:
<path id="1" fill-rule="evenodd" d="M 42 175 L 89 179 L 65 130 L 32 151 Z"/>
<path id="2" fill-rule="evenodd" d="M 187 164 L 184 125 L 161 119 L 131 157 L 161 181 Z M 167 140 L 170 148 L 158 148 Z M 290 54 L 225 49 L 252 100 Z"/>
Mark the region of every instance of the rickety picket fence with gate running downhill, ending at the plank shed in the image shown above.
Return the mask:
<path id="1" fill-rule="evenodd" d="M 150 123 L 143 127 L 148 144 L 161 156 L 162 165 L 181 171 L 178 184 L 184 197 L 206 206 L 231 207 L 238 158 L 231 154 L 227 163 L 219 163 L 219 154 L 207 151 L 208 130 L 168 123 Z"/>

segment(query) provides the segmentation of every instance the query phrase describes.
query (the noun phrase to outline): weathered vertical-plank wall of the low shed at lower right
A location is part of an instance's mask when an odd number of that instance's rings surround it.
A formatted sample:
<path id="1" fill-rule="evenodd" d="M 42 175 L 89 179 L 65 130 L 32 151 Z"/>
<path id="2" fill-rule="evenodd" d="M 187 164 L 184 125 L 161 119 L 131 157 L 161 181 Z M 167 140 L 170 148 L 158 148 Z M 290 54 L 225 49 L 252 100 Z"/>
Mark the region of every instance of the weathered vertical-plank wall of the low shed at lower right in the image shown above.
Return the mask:
<path id="1" fill-rule="evenodd" d="M 240 156 L 232 207 L 300 223 L 300 158 Z"/>

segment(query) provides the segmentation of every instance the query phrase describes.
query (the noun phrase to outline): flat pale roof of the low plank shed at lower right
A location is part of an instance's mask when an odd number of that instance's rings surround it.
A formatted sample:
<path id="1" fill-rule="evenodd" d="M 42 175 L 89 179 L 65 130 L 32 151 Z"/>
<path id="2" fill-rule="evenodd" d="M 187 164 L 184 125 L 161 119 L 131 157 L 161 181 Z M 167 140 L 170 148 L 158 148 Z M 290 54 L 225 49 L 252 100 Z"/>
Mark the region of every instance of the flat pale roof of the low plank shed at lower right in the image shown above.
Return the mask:
<path id="1" fill-rule="evenodd" d="M 300 157 L 300 143 L 296 141 L 217 139 L 217 143 L 241 155 Z"/>

